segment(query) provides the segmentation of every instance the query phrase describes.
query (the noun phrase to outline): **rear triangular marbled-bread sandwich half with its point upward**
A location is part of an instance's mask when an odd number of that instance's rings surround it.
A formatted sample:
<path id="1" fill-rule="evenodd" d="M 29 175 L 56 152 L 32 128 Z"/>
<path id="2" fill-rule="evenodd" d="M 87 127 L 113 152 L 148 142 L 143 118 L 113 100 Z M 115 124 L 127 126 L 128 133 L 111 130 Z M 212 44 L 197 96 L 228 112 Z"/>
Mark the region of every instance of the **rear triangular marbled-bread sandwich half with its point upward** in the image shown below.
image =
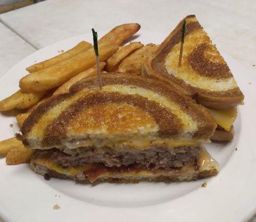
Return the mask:
<path id="1" fill-rule="evenodd" d="M 184 20 L 187 29 L 182 64 L 179 66 Z M 227 63 L 194 15 L 185 17 L 164 39 L 154 56 L 144 63 L 143 73 L 167 82 L 209 108 L 218 124 L 212 139 L 232 140 L 236 107 L 243 103 L 244 95 Z"/>

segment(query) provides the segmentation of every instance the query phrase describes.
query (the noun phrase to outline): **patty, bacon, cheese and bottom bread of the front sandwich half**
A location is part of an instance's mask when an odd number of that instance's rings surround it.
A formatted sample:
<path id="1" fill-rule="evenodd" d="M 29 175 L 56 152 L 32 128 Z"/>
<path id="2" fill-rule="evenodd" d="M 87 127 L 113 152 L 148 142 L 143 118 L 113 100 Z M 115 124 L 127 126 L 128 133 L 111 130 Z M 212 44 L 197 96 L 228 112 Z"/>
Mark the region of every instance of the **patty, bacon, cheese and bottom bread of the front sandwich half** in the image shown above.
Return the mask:
<path id="1" fill-rule="evenodd" d="M 144 150 L 83 147 L 38 150 L 32 168 L 44 175 L 93 182 L 97 179 L 139 180 L 166 177 L 194 180 L 217 174 L 218 164 L 203 147 L 154 147 Z M 162 180 L 161 179 L 161 180 Z"/>

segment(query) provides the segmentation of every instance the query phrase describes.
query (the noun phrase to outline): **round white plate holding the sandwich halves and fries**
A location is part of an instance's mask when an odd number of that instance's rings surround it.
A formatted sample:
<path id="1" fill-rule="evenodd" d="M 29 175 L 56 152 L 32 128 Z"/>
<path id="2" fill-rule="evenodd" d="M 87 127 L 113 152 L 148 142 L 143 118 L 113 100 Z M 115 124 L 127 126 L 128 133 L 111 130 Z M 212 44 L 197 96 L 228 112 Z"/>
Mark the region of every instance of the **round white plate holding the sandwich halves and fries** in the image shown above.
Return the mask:
<path id="1" fill-rule="evenodd" d="M 160 43 L 167 33 L 140 32 L 136 41 Z M 101 35 L 99 35 L 101 36 Z M 18 89 L 25 68 L 67 50 L 92 35 L 58 42 L 23 59 L 0 79 L 0 99 Z M 235 47 L 235 46 L 234 46 Z M 256 210 L 256 80 L 242 65 L 224 54 L 245 105 L 239 107 L 235 139 L 206 145 L 220 163 L 217 176 L 189 183 L 97 185 L 71 180 L 46 181 L 28 164 L 9 166 L 0 159 L 0 217 L 4 221 L 247 221 Z M 13 137 L 14 112 L 2 113 L 0 139 Z M 13 123 L 14 127 L 9 127 Z M 237 151 L 235 151 L 237 148 Z M 201 184 L 207 181 L 207 187 Z M 53 205 L 61 206 L 53 210 Z"/>

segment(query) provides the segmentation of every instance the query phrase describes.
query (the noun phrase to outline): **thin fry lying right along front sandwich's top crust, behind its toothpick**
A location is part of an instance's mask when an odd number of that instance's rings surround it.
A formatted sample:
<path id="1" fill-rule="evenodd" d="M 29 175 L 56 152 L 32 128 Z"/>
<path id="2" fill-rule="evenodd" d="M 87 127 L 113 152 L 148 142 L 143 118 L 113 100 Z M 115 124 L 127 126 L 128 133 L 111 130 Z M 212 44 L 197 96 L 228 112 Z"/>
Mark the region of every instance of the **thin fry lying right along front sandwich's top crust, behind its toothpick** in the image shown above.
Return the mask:
<path id="1" fill-rule="evenodd" d="M 101 63 L 99 63 L 99 68 L 102 70 L 105 65 L 106 65 L 106 63 L 101 62 Z M 96 75 L 96 74 L 97 74 L 97 67 L 96 67 L 96 65 L 94 65 L 92 68 L 89 68 L 89 69 L 83 71 L 82 73 L 79 73 L 79 74 L 75 75 L 73 78 L 69 79 L 66 83 L 61 85 L 53 93 L 53 95 L 57 95 L 57 94 L 60 94 L 60 93 L 68 93 L 68 90 L 71 87 L 71 85 L 73 85 L 74 83 L 78 82 L 79 80 L 81 80 L 83 78 L 89 77 L 91 75 Z"/>

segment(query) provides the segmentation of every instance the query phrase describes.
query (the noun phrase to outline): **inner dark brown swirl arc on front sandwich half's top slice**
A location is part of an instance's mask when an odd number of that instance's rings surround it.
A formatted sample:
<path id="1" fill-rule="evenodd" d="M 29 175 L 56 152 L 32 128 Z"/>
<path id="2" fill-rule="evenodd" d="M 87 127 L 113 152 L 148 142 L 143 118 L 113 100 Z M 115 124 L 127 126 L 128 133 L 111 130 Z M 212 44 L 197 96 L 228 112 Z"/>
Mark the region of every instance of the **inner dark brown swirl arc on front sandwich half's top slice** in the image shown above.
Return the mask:
<path id="1" fill-rule="evenodd" d="M 59 115 L 57 119 L 53 120 L 53 122 L 49 124 L 45 130 L 43 145 L 51 146 L 61 143 L 61 140 L 66 138 L 66 127 L 71 119 L 76 118 L 79 113 L 91 106 L 108 103 L 126 103 L 149 113 L 158 124 L 158 134 L 160 137 L 177 135 L 181 129 L 182 123 L 178 117 L 172 114 L 167 108 L 162 107 L 160 104 L 154 101 L 150 101 L 147 98 L 140 97 L 138 95 L 134 96 L 120 93 L 99 92 L 97 94 L 86 95 L 86 97 L 83 97 L 81 100 L 78 100 L 78 102 L 71 105 L 71 107 Z M 97 114 L 94 115 L 94 117 L 97 117 Z M 76 124 L 80 123 L 77 122 Z M 108 123 L 102 124 L 105 125 Z"/>

